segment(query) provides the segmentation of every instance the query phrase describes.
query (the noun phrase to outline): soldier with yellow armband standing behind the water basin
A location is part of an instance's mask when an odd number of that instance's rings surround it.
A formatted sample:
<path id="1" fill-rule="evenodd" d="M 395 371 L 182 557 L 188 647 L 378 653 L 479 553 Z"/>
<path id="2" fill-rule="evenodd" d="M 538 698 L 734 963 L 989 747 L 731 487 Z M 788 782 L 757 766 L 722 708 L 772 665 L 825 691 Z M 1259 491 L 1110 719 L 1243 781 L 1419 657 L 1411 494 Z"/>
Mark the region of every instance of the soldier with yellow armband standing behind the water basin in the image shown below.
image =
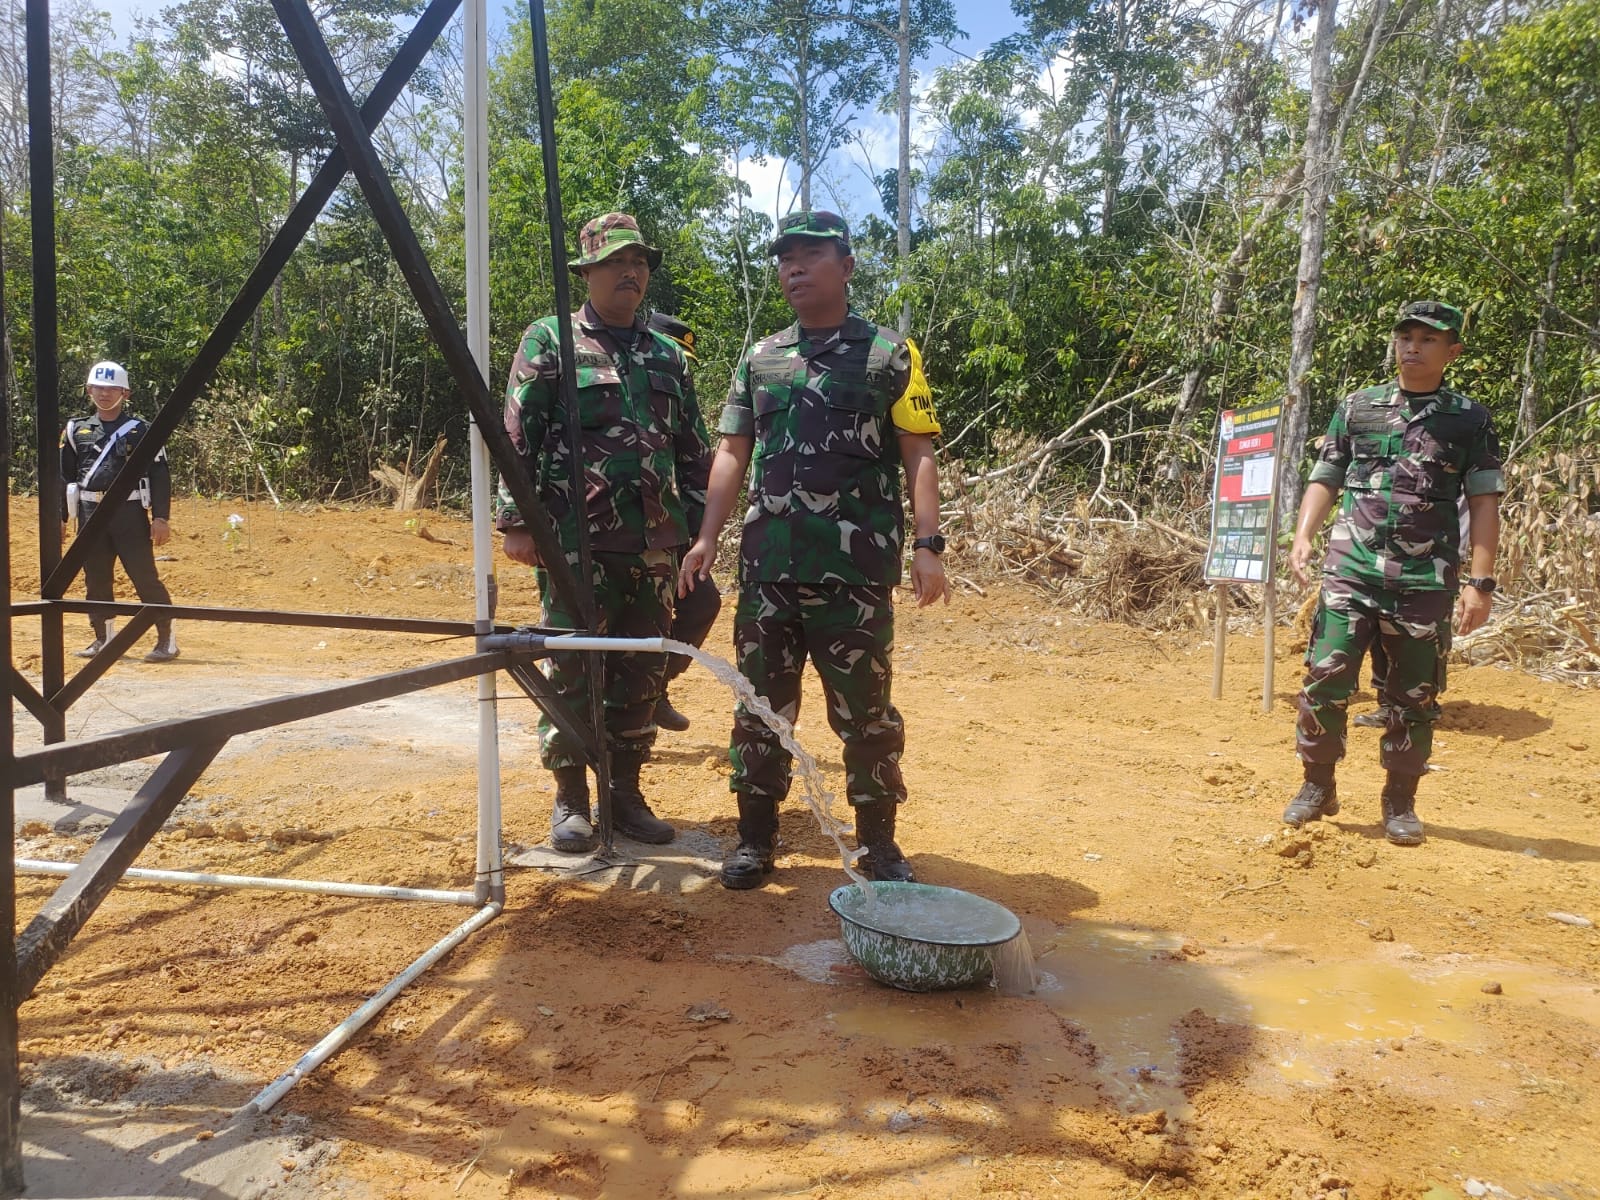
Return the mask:
<path id="1" fill-rule="evenodd" d="M 845 742 L 862 869 L 910 880 L 894 842 L 906 798 L 899 758 L 904 723 L 890 702 L 893 590 L 901 581 L 904 467 L 915 518 L 912 587 L 931 605 L 944 584 L 933 397 L 917 349 L 850 310 L 850 229 L 834 213 L 782 221 L 770 253 L 798 320 L 757 342 L 739 362 L 712 461 L 706 523 L 683 555 L 678 592 L 706 578 L 717 533 L 752 466 L 739 542 L 734 648 L 739 670 L 790 722 L 800 712 L 806 656 Z M 739 845 L 722 866 L 728 888 L 760 886 L 773 869 L 778 805 L 792 760 L 776 734 L 741 706 L 734 712 L 733 778 Z"/>

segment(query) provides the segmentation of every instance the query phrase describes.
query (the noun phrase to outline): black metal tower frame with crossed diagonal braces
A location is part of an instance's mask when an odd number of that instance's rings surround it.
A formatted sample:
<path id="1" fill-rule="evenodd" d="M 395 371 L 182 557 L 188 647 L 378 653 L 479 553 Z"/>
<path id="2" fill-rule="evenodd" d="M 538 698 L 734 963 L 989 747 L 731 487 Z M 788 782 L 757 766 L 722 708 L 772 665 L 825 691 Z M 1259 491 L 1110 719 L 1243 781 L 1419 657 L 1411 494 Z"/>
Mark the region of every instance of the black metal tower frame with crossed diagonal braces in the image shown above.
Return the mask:
<path id="1" fill-rule="evenodd" d="M 16 934 L 16 875 L 13 854 L 0 856 L 0 1195 L 18 1195 L 22 1189 L 21 1094 L 18 1062 L 18 1008 L 32 994 L 43 974 L 59 960 L 72 938 L 117 883 L 133 859 L 160 830 L 190 786 L 227 741 L 250 730 L 262 730 L 318 714 L 366 704 L 386 696 L 398 696 L 422 688 L 506 670 L 512 680 L 578 744 L 594 766 L 600 784 L 600 834 L 611 843 L 610 771 L 603 722 L 603 654 L 590 653 L 589 706 L 579 717 L 570 712 L 550 691 L 533 661 L 546 653 L 534 650 L 491 648 L 486 638 L 504 632 L 491 621 L 414 621 L 381 616 L 346 616 L 330 613 L 290 613 L 262 610 L 227 610 L 197 606 L 152 606 L 134 603 L 90 603 L 67 600 L 66 590 L 83 568 L 88 544 L 102 534 L 117 504 L 123 502 L 147 472 L 157 451 L 184 419 L 202 390 L 211 382 L 222 357 L 253 317 L 290 254 L 310 230 L 317 214 L 334 189 L 352 174 L 366 198 L 373 219 L 384 234 L 434 342 L 450 368 L 466 406 L 485 438 L 494 466 L 504 477 L 518 512 L 523 515 L 539 558 L 546 565 L 550 586 L 570 611 L 582 614 L 584 627 L 595 632 L 594 586 L 587 520 L 578 520 L 578 571 L 568 566 L 549 514 L 539 502 L 501 424 L 483 374 L 467 347 L 467 339 L 445 299 L 445 293 L 429 266 L 394 184 L 384 170 L 371 133 L 410 82 L 427 51 L 445 30 L 461 0 L 429 0 L 416 26 L 402 43 L 394 61 L 362 106 L 346 88 L 333 56 L 322 37 L 307 0 L 272 0 L 278 21 L 294 48 L 306 77 L 317 94 L 336 138 L 336 147 L 307 184 L 283 226 L 272 238 L 234 301 L 184 371 L 160 413 L 150 421 L 146 437 L 130 453 L 117 478 L 106 488 L 98 509 L 83 523 L 78 536 L 62 554 L 54 498 L 61 494 L 61 467 L 54 437 L 61 424 L 59 358 L 56 344 L 56 195 L 54 147 L 51 130 L 50 74 L 50 3 L 26 0 L 27 11 L 27 107 L 29 107 L 29 203 L 34 269 L 34 390 L 38 434 L 38 566 L 40 600 L 13 605 L 10 592 L 0 613 L 0 658 L 6 680 L 3 722 L 3 779 L 0 779 L 0 822 L 8 834 L 14 829 L 14 792 L 18 787 L 43 782 L 46 792 L 64 797 L 69 774 L 131 762 L 150 754 L 163 754 L 160 765 L 138 790 L 128 808 L 110 824 L 78 867 L 61 883 L 45 909 Z M 576 438 L 576 386 L 573 379 L 571 296 L 568 293 L 560 186 L 555 157 L 555 106 L 550 88 L 549 40 L 544 6 L 528 2 L 533 35 L 534 72 L 539 101 L 539 130 L 544 154 L 546 206 L 550 227 L 550 254 L 555 275 L 555 306 L 562 352 L 562 400 L 568 413 L 573 450 Z M 0 314 L 5 309 L 0 280 Z M 0 379 L 0 406 L 8 405 L 5 381 Z M 6 410 L 8 411 L 8 410 Z M 11 477 L 10 422 L 0 421 L 0 470 Z M 579 501 L 581 502 L 581 501 Z M 10 578 L 10 510 L 0 504 L 0 557 Z M 64 614 L 120 613 L 131 619 L 72 678 L 66 675 Z M 13 619 L 37 616 L 40 621 L 40 685 L 35 688 L 13 661 Z M 291 624 L 307 627 L 342 627 L 403 634 L 474 637 L 474 653 L 426 667 L 398 670 L 357 683 L 323 688 L 312 693 L 256 701 L 179 720 L 155 722 L 98 738 L 66 741 L 67 709 L 154 624 L 157 616 L 187 621 L 230 621 L 243 624 Z M 538 642 L 538 638 L 534 638 Z M 16 754 L 14 701 L 32 714 L 42 726 L 45 746 L 30 754 Z M 478 880 L 478 899 L 501 902 L 504 886 L 496 880 Z"/>

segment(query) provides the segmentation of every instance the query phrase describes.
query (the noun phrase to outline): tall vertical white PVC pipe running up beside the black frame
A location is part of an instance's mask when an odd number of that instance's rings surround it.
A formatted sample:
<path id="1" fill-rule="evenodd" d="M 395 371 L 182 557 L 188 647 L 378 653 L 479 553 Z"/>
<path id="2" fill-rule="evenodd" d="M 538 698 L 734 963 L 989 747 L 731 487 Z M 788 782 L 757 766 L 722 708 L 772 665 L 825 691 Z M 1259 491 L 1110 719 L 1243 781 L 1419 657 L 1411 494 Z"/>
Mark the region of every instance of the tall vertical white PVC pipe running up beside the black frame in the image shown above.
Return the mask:
<path id="1" fill-rule="evenodd" d="M 466 251 L 467 251 L 467 349 L 483 381 L 490 381 L 490 219 L 488 219 L 488 19 L 486 0 L 467 0 L 462 54 L 466 101 L 461 125 L 466 134 Z M 494 389 L 490 387 L 490 395 Z M 472 579 L 474 619 L 480 634 L 494 621 L 494 538 L 490 533 L 488 445 L 477 421 L 470 422 L 472 461 Z M 506 864 L 501 854 L 499 720 L 496 672 L 478 675 L 478 902 L 506 898 Z"/>

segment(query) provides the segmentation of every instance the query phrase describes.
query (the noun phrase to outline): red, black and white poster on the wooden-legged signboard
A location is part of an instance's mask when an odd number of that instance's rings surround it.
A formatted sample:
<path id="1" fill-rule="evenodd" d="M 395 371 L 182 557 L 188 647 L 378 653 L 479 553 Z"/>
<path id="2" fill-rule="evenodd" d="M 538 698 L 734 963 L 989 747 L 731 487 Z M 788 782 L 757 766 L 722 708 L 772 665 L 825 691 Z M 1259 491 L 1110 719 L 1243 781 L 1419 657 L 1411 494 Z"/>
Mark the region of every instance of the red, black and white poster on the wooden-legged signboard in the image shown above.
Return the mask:
<path id="1" fill-rule="evenodd" d="M 1205 578 L 1264 582 L 1272 555 L 1274 483 L 1283 402 L 1229 408 L 1218 418 L 1216 486 Z"/>

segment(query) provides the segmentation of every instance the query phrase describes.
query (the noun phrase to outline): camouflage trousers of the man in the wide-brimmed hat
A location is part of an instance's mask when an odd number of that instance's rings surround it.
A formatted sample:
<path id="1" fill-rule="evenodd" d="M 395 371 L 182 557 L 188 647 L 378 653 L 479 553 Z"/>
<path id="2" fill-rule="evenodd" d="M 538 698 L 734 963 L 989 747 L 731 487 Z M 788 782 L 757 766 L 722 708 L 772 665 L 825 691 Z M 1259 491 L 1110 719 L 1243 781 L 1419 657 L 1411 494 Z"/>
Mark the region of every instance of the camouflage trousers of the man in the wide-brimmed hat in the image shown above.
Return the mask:
<path id="1" fill-rule="evenodd" d="M 672 621 L 672 592 L 677 587 L 677 550 L 643 550 L 618 554 L 595 550 L 592 555 L 595 610 L 602 637 L 666 637 Z M 578 571 L 576 555 L 568 562 Z M 550 587 L 549 573 L 534 571 L 539 581 L 539 603 L 544 624 L 576 629 L 578 613 L 568 611 Z M 586 654 L 550 654 L 539 669 L 566 707 L 589 723 L 589 688 Z M 605 654 L 605 728 L 611 750 L 648 755 L 656 741 L 656 701 L 661 699 L 667 670 L 666 654 L 610 651 Z M 539 717 L 539 760 L 547 770 L 578 766 L 582 747 Z"/>

